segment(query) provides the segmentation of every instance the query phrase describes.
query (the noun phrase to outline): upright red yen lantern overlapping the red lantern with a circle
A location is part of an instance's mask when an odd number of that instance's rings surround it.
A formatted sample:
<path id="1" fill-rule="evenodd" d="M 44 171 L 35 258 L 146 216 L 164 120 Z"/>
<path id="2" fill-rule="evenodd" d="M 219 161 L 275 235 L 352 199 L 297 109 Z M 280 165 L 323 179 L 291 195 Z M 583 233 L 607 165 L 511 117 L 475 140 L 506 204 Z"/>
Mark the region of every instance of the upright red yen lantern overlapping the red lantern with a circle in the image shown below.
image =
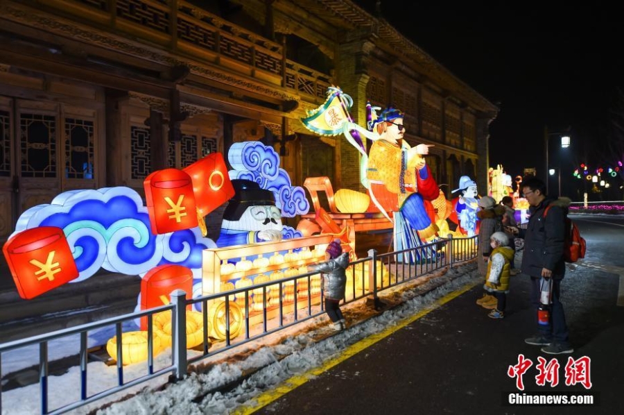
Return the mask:
<path id="1" fill-rule="evenodd" d="M 198 225 L 193 184 L 187 173 L 177 169 L 155 171 L 147 176 L 143 187 L 154 235 Z"/>

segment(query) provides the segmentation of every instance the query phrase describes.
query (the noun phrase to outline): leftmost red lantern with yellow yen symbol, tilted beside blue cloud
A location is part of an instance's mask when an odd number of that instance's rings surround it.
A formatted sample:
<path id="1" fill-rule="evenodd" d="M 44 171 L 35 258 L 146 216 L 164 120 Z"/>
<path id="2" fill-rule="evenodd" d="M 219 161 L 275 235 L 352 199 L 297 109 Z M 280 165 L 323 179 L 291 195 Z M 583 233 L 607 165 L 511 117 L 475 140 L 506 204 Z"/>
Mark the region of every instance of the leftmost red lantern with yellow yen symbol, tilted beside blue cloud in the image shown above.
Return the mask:
<path id="1" fill-rule="evenodd" d="M 29 300 L 78 278 L 61 228 L 40 226 L 9 238 L 2 251 L 21 298 Z"/>

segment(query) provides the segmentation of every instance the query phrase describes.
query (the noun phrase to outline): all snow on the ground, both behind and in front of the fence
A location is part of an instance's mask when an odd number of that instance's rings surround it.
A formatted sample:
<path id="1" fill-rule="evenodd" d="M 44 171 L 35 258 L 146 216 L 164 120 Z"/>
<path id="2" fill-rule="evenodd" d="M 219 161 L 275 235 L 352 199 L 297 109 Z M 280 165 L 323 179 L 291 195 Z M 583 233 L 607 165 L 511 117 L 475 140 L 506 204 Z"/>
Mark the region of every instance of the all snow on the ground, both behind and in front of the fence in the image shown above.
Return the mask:
<path id="1" fill-rule="evenodd" d="M 350 326 L 343 332 L 333 334 L 327 323 L 327 316 L 318 316 L 202 360 L 196 366 L 196 371 L 182 382 L 167 384 L 168 377 L 162 375 L 71 413 L 87 414 L 97 411 L 100 415 L 227 414 L 243 403 L 252 402 L 260 393 L 276 387 L 284 380 L 322 366 L 347 346 L 399 324 L 431 305 L 437 298 L 468 283 L 478 283 L 480 277 L 476 263 L 472 262 L 449 271 L 437 271 L 425 279 L 432 284 L 442 285 L 426 294 L 422 294 L 422 281 L 381 291 L 380 297 L 385 303 L 390 306 L 398 304 L 396 307 L 386 307 L 382 313 L 372 311 L 372 306 L 367 305 L 365 300 L 344 305 L 343 312 Z M 189 357 L 193 353 L 196 352 L 189 350 Z M 31 363 L 24 366 L 29 359 Z M 28 367 L 33 362 L 36 364 L 37 359 L 38 350 L 30 350 L 21 357 L 20 362 L 24 362 L 21 366 Z M 171 350 L 161 353 L 155 357 L 155 370 L 168 366 L 170 362 Z M 3 368 L 6 363 L 7 360 L 3 358 Z M 87 373 L 89 395 L 117 384 L 116 366 L 89 362 Z M 146 374 L 146 364 L 125 366 L 123 373 L 124 381 L 128 382 Z M 228 388 L 230 384 L 236 386 Z M 75 366 L 64 375 L 51 376 L 49 388 L 49 409 L 78 400 L 80 368 Z M 219 389 L 223 391 L 217 391 Z M 3 392 L 2 414 L 39 413 L 39 393 L 39 384 Z M 115 402 L 122 397 L 125 400 Z M 109 406 L 98 410 L 103 405 Z"/>

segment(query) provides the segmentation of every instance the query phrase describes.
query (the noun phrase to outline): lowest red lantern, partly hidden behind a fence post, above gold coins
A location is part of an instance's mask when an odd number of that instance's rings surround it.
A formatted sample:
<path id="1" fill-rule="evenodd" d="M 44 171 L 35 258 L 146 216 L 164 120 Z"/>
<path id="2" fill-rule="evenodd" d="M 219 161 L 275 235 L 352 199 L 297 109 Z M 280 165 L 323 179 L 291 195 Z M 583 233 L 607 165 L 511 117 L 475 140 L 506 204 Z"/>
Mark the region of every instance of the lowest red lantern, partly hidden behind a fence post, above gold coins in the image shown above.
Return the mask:
<path id="1" fill-rule="evenodd" d="M 193 272 L 186 266 L 160 265 L 150 269 L 141 280 L 141 310 L 169 303 L 169 294 L 175 289 L 193 298 Z M 190 310 L 189 305 L 189 310 Z M 141 317 L 141 330 L 147 330 L 147 317 Z"/>

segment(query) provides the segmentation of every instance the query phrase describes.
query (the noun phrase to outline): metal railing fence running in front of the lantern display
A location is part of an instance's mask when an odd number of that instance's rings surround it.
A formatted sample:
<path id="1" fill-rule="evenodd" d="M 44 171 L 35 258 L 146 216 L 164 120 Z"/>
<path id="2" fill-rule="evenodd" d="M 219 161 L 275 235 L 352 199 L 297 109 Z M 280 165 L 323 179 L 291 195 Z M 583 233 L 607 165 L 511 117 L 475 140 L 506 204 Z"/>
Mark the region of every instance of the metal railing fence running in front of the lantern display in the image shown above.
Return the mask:
<path id="1" fill-rule="evenodd" d="M 403 284 L 411 280 L 415 280 L 427 273 L 437 271 L 439 269 L 452 267 L 453 264 L 472 260 L 477 256 L 478 236 L 471 238 L 452 238 L 440 239 L 431 244 L 425 244 L 409 250 L 396 251 L 391 253 L 378 254 L 374 250 L 369 251 L 369 256 L 352 262 L 347 270 L 347 292 L 345 294 L 344 303 L 352 303 L 363 298 L 372 298 L 374 305 L 379 304 L 379 292 L 397 285 Z M 417 258 L 417 260 L 406 261 L 407 258 Z M 40 384 L 40 409 L 41 414 L 62 414 L 71 409 L 93 403 L 105 396 L 128 389 L 147 382 L 161 375 L 169 374 L 171 380 L 182 380 L 187 375 L 187 367 L 189 364 L 200 362 L 202 359 L 223 353 L 234 347 L 241 346 L 249 341 L 260 339 L 268 334 L 278 332 L 284 328 L 301 323 L 316 316 L 324 314 L 324 306 L 322 293 L 312 293 L 313 278 L 318 278 L 318 273 L 308 272 L 290 278 L 281 280 L 271 280 L 262 282 L 250 287 L 234 289 L 231 291 L 211 294 L 209 296 L 201 296 L 187 300 L 186 293 L 181 290 L 175 290 L 171 293 L 171 303 L 162 307 L 156 307 L 150 310 L 125 314 L 98 321 L 96 323 L 88 323 L 79 325 L 75 328 L 58 330 L 48 334 L 42 334 L 28 339 L 11 341 L 6 344 L 0 344 L 0 378 L 1 378 L 1 358 L 2 354 L 10 350 L 25 348 L 27 346 L 39 345 L 40 347 L 40 363 L 39 363 L 39 384 Z M 293 301 L 284 301 L 284 292 L 286 286 L 291 287 L 308 287 L 307 290 L 301 290 L 305 293 L 302 296 L 295 294 Z M 276 307 L 268 305 L 268 291 L 277 289 L 277 298 L 279 304 Z M 260 295 L 261 309 L 252 312 L 250 298 Z M 239 309 L 236 305 L 234 296 L 243 296 L 244 303 L 242 307 L 242 316 L 236 321 L 233 310 Z M 254 298 L 254 303 L 260 303 Z M 203 346 L 200 355 L 188 357 L 187 355 L 187 318 L 186 310 L 189 305 L 200 305 L 202 310 L 202 329 L 203 329 Z M 210 344 L 209 341 L 209 310 L 211 305 L 218 305 L 217 309 L 223 314 L 221 319 L 225 325 L 225 339 L 218 344 Z M 286 308 L 288 307 L 288 310 Z M 255 307 L 257 308 L 257 307 Z M 172 344 L 172 361 L 171 364 L 154 370 L 154 333 L 153 318 L 156 314 L 162 312 L 172 313 L 171 328 L 171 344 Z M 275 313 L 277 312 L 277 315 Z M 292 316 L 290 321 L 285 321 L 285 313 Z M 253 315 L 252 315 L 253 314 Z M 147 319 L 147 340 L 148 340 L 148 362 L 147 373 L 128 382 L 123 378 L 123 342 L 122 342 L 122 324 L 125 321 L 132 321 L 146 317 Z M 232 322 L 244 324 L 244 332 L 234 337 L 232 335 Z M 89 331 L 104 328 L 109 325 L 115 326 L 116 339 L 116 369 L 117 369 L 117 386 L 106 389 L 91 396 L 87 393 L 87 334 Z M 64 405 L 62 407 L 49 409 L 49 388 L 48 388 L 48 344 L 49 341 L 68 337 L 74 334 L 80 334 L 80 400 Z M 0 384 L 0 412 L 2 409 L 2 389 Z"/>

